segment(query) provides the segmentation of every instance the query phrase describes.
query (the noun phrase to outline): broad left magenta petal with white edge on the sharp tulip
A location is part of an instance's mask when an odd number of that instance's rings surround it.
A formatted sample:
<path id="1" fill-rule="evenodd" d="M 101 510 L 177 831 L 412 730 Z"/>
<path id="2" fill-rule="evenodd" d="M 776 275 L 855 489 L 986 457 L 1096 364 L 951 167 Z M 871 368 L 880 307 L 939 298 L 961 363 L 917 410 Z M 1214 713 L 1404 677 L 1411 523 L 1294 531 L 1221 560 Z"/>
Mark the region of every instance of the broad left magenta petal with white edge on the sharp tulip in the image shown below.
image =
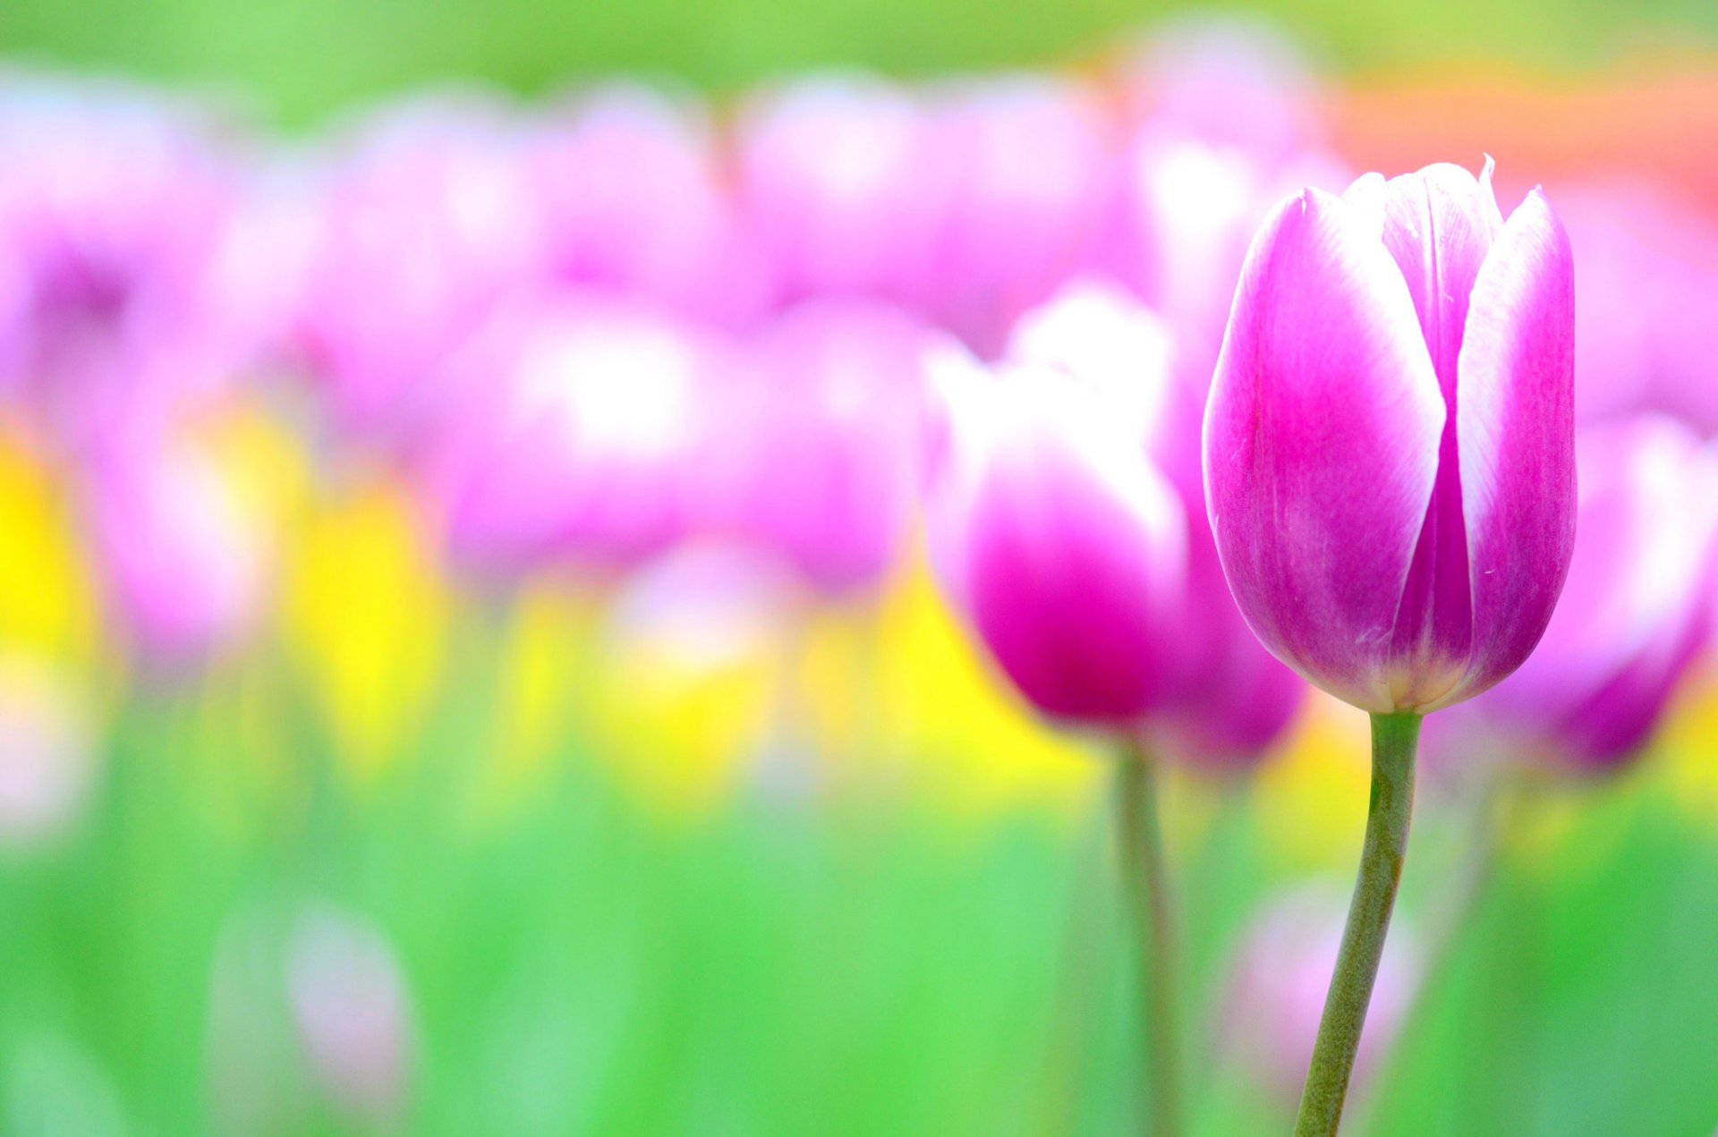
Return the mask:
<path id="1" fill-rule="evenodd" d="M 1254 239 L 1204 421 L 1230 589 L 1280 660 L 1371 711 L 1438 474 L 1445 409 L 1395 261 L 1319 191 Z"/>

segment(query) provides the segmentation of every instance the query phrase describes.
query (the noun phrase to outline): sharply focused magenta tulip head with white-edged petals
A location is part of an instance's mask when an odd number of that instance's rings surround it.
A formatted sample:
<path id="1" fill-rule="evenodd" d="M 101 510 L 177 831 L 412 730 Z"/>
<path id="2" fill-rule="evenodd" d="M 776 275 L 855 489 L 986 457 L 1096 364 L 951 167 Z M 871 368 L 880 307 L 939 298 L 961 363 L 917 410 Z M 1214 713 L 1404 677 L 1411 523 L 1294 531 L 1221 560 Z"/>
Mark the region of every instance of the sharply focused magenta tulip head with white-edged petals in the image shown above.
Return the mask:
<path id="1" fill-rule="evenodd" d="M 1569 240 L 1428 167 L 1264 222 L 1204 423 L 1211 529 L 1276 658 L 1373 713 L 1514 672 L 1575 527 Z"/>

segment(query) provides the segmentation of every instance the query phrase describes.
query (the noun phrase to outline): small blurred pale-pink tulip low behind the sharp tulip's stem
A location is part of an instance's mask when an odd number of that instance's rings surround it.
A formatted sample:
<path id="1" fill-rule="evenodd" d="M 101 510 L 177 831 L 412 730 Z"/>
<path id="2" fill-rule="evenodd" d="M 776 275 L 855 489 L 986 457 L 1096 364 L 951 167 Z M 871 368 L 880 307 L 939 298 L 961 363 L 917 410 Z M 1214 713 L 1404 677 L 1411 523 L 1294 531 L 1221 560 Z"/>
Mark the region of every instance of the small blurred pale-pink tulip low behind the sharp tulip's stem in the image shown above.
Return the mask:
<path id="1" fill-rule="evenodd" d="M 1335 886 L 1306 885 L 1276 897 L 1242 933 L 1230 970 L 1221 1048 L 1287 1106 L 1301 1099 L 1313 1060 L 1347 907 Z M 1402 1031 L 1424 972 L 1412 924 L 1398 919 L 1390 931 L 1354 1063 L 1356 1085 L 1364 1085 Z"/>

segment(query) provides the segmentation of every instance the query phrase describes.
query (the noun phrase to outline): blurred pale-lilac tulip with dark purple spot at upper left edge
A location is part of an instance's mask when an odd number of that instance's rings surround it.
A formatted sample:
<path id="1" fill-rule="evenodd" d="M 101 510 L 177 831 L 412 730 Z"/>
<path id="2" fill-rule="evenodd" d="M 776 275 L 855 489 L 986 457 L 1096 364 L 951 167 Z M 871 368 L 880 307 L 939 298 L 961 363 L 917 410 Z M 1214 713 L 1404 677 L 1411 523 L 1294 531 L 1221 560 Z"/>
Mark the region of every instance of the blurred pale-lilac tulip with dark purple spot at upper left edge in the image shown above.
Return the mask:
<path id="1" fill-rule="evenodd" d="M 0 74 L 0 393 L 76 433 L 218 388 L 261 350 L 280 313 L 234 273 L 251 185 L 216 139 L 120 84 Z"/>

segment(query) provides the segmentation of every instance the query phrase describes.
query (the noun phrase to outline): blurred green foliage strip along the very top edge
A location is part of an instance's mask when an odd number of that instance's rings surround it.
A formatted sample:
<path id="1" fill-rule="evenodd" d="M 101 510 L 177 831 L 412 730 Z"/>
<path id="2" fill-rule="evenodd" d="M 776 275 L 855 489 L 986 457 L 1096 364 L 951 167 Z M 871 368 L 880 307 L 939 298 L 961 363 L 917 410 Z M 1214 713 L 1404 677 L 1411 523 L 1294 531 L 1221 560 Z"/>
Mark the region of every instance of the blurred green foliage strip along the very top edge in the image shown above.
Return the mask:
<path id="1" fill-rule="evenodd" d="M 902 76 L 1070 62 L 1206 10 L 1177 0 L 5 0 L 0 52 L 225 88 L 304 125 L 356 100 L 467 79 L 526 93 L 646 74 L 732 93 L 806 67 Z M 1261 0 L 1342 69 L 1510 60 L 1601 64 L 1642 45 L 1718 41 L 1701 0 Z"/>

